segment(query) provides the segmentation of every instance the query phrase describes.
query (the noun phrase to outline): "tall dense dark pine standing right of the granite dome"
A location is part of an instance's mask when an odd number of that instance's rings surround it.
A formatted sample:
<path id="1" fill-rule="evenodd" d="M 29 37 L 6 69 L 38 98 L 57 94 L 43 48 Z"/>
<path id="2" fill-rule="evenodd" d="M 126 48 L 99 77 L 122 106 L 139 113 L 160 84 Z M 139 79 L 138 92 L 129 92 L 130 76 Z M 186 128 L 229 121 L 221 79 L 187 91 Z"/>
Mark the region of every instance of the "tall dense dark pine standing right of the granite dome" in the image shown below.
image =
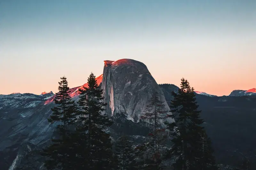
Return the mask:
<path id="1" fill-rule="evenodd" d="M 167 158 L 172 156 L 176 158 L 172 164 L 174 170 L 214 169 L 216 166 L 210 139 L 201 126 L 204 121 L 200 119 L 201 111 L 197 110 L 193 87 L 190 88 L 188 81 L 182 78 L 180 89 L 177 94 L 172 92 L 172 95 L 174 96 L 171 102 L 172 115 L 169 116 L 175 122 L 166 122 L 173 144 L 167 153 Z"/>

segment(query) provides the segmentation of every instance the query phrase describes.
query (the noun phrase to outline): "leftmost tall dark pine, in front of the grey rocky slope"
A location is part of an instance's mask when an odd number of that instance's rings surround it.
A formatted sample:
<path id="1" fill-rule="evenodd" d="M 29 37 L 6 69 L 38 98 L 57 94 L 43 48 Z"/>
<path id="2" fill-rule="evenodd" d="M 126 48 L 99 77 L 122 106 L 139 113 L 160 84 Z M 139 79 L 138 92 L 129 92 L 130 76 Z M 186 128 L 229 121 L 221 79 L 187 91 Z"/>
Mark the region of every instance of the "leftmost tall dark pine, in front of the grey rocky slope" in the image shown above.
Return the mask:
<path id="1" fill-rule="evenodd" d="M 57 138 L 52 139 L 52 144 L 43 151 L 43 155 L 47 157 L 45 161 L 46 169 L 70 169 L 72 167 L 72 159 L 74 155 L 70 148 L 72 141 L 70 134 L 72 133 L 70 126 L 75 121 L 76 105 L 69 96 L 69 87 L 67 78 L 60 78 L 59 92 L 56 93 L 54 102 L 57 106 L 52 108 L 52 115 L 48 121 L 57 123 Z"/>

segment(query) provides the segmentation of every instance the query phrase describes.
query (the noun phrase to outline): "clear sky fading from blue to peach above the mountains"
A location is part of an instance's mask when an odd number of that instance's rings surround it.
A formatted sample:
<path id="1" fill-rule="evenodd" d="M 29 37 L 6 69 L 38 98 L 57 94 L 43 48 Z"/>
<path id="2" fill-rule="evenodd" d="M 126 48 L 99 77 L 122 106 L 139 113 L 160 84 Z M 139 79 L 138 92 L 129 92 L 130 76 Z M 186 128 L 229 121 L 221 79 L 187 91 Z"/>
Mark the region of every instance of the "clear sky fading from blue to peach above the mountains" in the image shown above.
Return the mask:
<path id="1" fill-rule="evenodd" d="M 256 88 L 255 0 L 1 0 L 0 94 L 57 92 L 104 60 L 147 65 L 156 82 L 228 95 Z"/>

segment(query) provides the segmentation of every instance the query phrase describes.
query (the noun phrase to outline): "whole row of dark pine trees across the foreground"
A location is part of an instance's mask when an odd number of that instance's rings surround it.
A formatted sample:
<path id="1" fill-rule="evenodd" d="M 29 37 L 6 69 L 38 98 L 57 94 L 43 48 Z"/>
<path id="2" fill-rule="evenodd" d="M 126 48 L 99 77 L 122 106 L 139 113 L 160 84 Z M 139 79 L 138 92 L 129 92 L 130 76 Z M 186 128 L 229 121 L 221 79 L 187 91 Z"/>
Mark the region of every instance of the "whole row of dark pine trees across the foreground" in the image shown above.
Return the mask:
<path id="1" fill-rule="evenodd" d="M 69 95 L 66 77 L 60 78 L 55 107 L 48 119 L 56 123 L 51 144 L 40 153 L 47 170 L 217 170 L 211 140 L 200 118 L 193 87 L 182 78 L 172 92 L 171 113 L 154 89 L 148 112 L 140 117 L 153 124 L 143 144 L 122 134 L 115 143 L 108 131 L 114 123 L 102 111 L 102 89 L 93 73 L 88 87 L 79 89 L 79 100 Z M 169 121 L 167 121 L 169 120 Z M 175 121 L 173 121 L 175 120 Z M 21 169 L 33 169 L 28 165 Z"/>

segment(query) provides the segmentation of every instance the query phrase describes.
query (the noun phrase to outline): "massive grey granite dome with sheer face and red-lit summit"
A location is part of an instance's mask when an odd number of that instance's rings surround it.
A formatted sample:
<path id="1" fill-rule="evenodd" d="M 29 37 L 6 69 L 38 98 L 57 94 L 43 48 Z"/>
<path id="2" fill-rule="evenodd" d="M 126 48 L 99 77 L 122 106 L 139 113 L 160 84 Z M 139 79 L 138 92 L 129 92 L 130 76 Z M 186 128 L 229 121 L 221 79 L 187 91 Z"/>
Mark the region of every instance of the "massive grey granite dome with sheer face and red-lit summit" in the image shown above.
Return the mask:
<path id="1" fill-rule="evenodd" d="M 148 112 L 148 100 L 154 89 L 164 102 L 163 110 L 170 110 L 161 88 L 145 64 L 132 59 L 106 60 L 104 63 L 101 88 L 107 103 L 105 113 L 111 116 L 123 113 L 127 119 L 139 122 L 140 116 Z"/>

